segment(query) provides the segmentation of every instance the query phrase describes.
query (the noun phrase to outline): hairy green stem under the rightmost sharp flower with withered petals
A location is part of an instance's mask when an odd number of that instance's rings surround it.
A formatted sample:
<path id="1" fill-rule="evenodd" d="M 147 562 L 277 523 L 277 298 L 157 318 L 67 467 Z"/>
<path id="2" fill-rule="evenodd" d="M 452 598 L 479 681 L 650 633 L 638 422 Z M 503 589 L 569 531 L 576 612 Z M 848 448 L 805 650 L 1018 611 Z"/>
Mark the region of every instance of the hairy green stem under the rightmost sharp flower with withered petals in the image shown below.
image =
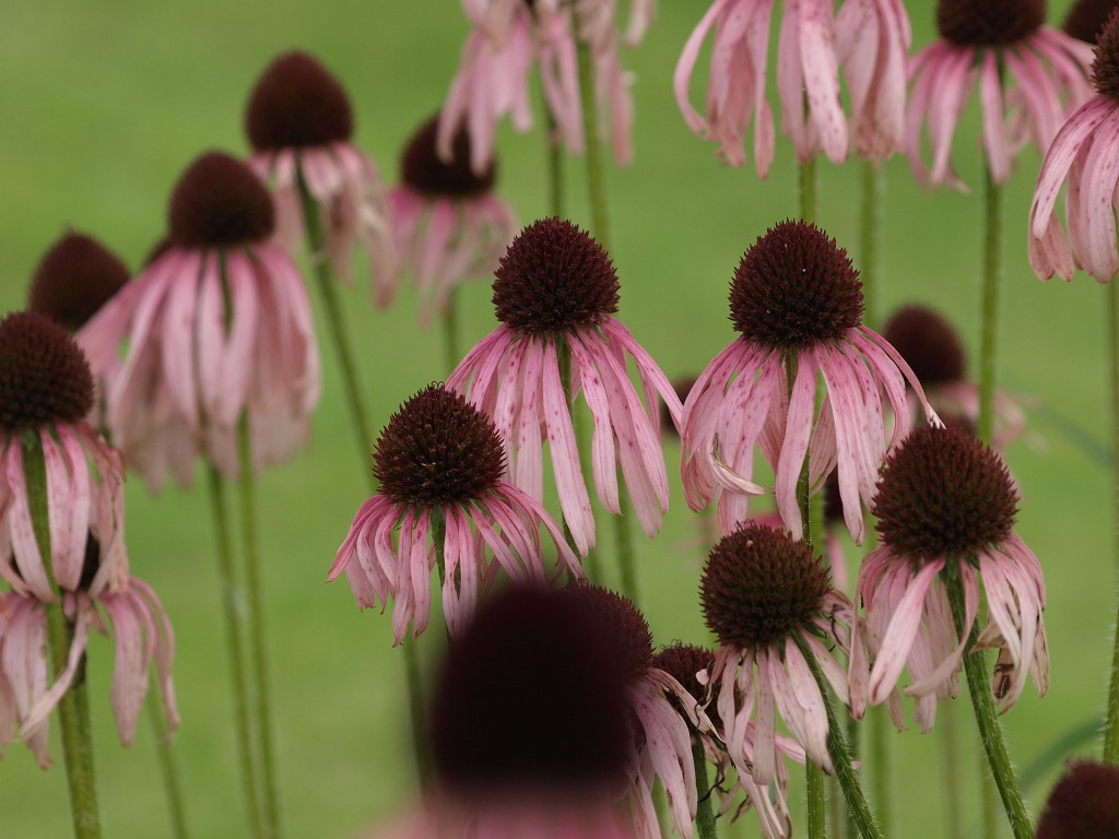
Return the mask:
<path id="1" fill-rule="evenodd" d="M 951 558 L 948 560 L 944 565 L 943 577 L 948 587 L 948 602 L 952 607 L 952 618 L 956 620 L 956 631 L 963 632 L 963 581 L 957 560 Z M 1003 741 L 1003 729 L 995 715 L 995 700 L 990 695 L 984 656 L 981 651 L 975 649 L 978 635 L 979 626 L 978 622 L 975 622 L 971 624 L 963 653 L 963 671 L 968 677 L 968 692 L 971 695 L 971 706 L 975 708 L 976 725 L 979 727 L 979 737 L 982 741 L 984 751 L 987 753 L 987 763 L 1003 798 L 1003 807 L 1006 810 L 1006 818 L 1010 822 L 1010 831 L 1015 839 L 1031 839 L 1034 835 L 1033 827 L 1029 823 L 1029 816 L 1026 813 L 1022 792 L 1018 790 L 1018 781 L 1014 775 L 1014 767 L 1010 765 L 1006 743 Z"/>

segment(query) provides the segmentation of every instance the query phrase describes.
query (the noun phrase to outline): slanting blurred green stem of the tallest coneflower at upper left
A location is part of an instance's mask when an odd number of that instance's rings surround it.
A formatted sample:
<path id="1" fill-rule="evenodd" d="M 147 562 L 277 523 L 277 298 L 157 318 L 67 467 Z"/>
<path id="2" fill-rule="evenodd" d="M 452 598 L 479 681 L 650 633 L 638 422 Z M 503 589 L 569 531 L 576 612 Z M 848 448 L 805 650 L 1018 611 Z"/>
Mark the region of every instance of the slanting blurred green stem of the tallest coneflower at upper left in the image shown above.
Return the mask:
<path id="1" fill-rule="evenodd" d="M 346 389 L 346 399 L 349 404 L 350 420 L 354 424 L 354 434 L 360 455 L 358 462 L 364 468 L 370 492 L 376 493 L 377 479 L 373 474 L 373 470 L 369 469 L 369 434 L 373 433 L 373 425 L 369 422 L 369 412 L 366 411 L 365 399 L 361 396 L 360 379 L 357 374 L 357 364 L 354 360 L 349 329 L 346 326 L 346 318 L 338 300 L 337 282 L 330 267 L 330 260 L 326 257 L 327 237 L 322 230 L 319 206 L 307 188 L 302 171 L 299 172 L 299 200 L 303 210 L 303 224 L 307 227 L 307 244 L 311 252 L 311 264 L 314 266 L 314 276 L 322 295 L 322 303 L 326 307 L 327 320 L 330 321 L 330 329 L 327 331 L 330 332 L 330 338 L 333 341 L 335 352 L 338 356 L 338 367 L 342 374 L 342 385 Z"/>

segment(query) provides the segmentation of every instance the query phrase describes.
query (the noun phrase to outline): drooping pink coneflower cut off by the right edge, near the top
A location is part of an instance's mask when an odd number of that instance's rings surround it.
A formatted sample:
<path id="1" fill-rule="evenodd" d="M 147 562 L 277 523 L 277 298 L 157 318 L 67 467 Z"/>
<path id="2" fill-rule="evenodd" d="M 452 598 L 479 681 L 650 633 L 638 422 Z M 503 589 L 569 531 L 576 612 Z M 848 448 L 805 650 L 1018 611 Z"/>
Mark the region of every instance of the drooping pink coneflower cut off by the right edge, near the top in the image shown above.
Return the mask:
<path id="1" fill-rule="evenodd" d="M 1029 264 L 1037 276 L 1071 280 L 1080 267 L 1100 282 L 1119 274 L 1116 247 L 1115 166 L 1119 149 L 1119 15 L 1109 18 L 1096 47 L 1092 76 L 1097 95 L 1056 135 L 1045 153 L 1029 208 Z M 1054 207 L 1065 179 L 1065 224 Z"/>

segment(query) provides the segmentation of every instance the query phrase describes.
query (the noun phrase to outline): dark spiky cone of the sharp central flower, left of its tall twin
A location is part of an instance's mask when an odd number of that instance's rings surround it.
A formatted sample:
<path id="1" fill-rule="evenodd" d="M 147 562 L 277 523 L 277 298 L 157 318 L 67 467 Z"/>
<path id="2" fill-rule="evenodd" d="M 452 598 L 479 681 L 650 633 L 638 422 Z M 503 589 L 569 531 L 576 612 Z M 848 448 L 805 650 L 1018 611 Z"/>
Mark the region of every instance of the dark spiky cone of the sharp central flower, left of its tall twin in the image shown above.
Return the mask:
<path id="1" fill-rule="evenodd" d="M 562 218 L 521 230 L 493 277 L 497 319 L 526 332 L 590 326 L 618 311 L 618 274 L 606 252 Z"/>

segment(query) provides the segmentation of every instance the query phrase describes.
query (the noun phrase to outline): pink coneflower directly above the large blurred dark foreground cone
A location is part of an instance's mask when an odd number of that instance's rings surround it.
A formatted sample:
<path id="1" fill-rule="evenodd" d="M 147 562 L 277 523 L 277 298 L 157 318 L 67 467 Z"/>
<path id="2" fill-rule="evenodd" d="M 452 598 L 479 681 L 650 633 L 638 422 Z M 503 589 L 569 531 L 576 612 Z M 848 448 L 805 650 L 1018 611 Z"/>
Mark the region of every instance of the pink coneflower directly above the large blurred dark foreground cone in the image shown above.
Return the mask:
<path id="1" fill-rule="evenodd" d="M 329 579 L 345 571 L 361 609 L 392 598 L 396 643 L 408 623 L 414 635 L 427 628 L 436 557 L 445 563 L 440 576 L 451 634 L 473 614 L 498 568 L 521 583 L 546 579 L 540 527 L 561 568 L 582 577 L 544 507 L 501 480 L 505 452 L 492 421 L 458 394 L 432 385 L 404 403 L 373 460 L 380 492 L 354 517 Z"/>

